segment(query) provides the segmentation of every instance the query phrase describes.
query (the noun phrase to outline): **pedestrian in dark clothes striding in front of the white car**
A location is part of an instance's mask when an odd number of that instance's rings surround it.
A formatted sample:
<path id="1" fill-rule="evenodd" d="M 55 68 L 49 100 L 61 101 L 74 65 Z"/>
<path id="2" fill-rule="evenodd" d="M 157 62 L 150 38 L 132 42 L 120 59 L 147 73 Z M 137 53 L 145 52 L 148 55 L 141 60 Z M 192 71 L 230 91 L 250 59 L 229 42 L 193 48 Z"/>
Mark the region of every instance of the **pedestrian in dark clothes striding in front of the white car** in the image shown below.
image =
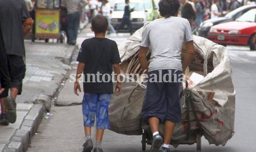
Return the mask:
<path id="1" fill-rule="evenodd" d="M 117 28 L 117 33 L 119 32 L 120 29 L 123 29 L 124 26 L 127 25 L 130 35 L 132 35 L 132 25 L 131 25 L 130 17 L 131 17 L 131 12 L 133 12 L 135 8 L 130 9 L 129 3 L 130 3 L 130 0 L 125 0 L 124 15 L 123 15 L 123 19 L 120 26 Z"/>

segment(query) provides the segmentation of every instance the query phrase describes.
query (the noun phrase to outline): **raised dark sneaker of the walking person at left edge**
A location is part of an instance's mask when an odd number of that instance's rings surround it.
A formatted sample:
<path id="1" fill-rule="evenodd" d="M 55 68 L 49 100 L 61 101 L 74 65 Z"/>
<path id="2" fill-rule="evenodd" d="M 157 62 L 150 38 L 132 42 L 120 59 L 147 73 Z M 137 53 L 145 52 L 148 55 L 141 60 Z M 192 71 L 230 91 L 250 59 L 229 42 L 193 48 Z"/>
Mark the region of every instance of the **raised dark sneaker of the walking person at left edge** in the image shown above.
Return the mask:
<path id="1" fill-rule="evenodd" d="M 6 117 L 10 123 L 16 122 L 16 102 L 12 97 L 4 98 L 4 105 L 7 109 Z"/>

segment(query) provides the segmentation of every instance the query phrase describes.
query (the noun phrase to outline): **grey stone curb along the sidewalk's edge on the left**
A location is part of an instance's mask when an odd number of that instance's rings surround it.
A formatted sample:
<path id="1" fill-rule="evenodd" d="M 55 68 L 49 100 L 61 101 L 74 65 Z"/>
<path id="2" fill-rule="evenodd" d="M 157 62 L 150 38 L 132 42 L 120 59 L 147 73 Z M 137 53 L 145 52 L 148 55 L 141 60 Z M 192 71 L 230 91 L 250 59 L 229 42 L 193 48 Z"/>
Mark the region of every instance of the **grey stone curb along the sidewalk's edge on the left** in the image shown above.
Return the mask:
<path id="1" fill-rule="evenodd" d="M 64 64 L 68 66 L 71 63 L 73 54 L 77 49 L 78 46 L 75 46 L 74 49 L 71 49 L 71 51 L 66 54 L 66 56 L 63 58 Z M 65 76 L 63 79 L 65 79 Z M 44 114 L 50 111 L 52 98 L 56 95 L 56 92 L 60 88 L 62 82 L 63 81 L 59 82 L 59 87 L 56 88 L 56 91 L 52 96 L 41 94 L 35 99 L 35 101 L 33 101 L 34 105 L 23 119 L 19 129 L 16 129 L 12 135 L 10 142 L 5 145 L 2 152 L 27 151 L 32 137 L 37 132 L 39 125 L 44 118 Z"/>

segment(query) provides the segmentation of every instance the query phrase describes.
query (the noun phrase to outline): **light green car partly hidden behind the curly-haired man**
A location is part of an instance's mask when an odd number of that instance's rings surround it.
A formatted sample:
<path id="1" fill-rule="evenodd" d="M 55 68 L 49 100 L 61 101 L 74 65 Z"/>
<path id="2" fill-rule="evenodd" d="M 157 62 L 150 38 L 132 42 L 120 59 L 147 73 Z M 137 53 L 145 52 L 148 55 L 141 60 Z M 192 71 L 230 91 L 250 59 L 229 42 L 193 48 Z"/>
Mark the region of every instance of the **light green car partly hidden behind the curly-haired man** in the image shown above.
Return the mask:
<path id="1" fill-rule="evenodd" d="M 154 0 L 143 0 L 145 10 L 147 11 L 147 21 L 153 21 L 158 19 L 158 7 L 156 6 Z"/>

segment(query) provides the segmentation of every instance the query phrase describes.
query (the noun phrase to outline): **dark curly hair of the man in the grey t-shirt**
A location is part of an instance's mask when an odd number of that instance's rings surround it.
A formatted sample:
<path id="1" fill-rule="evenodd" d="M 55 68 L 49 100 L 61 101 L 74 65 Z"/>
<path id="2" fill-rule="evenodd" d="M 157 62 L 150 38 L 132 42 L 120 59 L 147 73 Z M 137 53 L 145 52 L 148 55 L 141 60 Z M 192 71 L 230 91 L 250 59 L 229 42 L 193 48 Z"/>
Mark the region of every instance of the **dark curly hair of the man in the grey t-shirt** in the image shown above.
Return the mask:
<path id="1" fill-rule="evenodd" d="M 178 0 L 160 0 L 158 3 L 160 15 L 164 18 L 175 16 L 179 10 Z"/>

